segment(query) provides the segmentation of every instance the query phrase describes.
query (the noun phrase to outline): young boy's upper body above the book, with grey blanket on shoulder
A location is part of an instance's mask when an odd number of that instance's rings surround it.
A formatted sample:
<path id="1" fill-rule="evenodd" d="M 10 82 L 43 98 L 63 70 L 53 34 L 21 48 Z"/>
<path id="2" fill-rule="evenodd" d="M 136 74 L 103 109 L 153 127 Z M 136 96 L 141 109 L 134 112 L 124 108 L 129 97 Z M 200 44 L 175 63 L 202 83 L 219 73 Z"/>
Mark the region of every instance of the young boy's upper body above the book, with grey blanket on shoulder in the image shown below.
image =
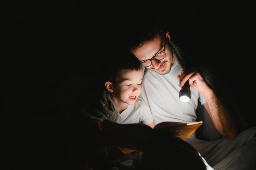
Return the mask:
<path id="1" fill-rule="evenodd" d="M 113 62 L 120 55 L 122 60 L 117 64 Z M 96 88 L 100 93 L 88 104 L 85 114 L 120 124 L 143 123 L 153 128 L 155 123 L 150 108 L 138 99 L 142 68 L 137 58 L 129 51 L 116 52 L 106 58 L 99 82 L 102 86 Z"/>

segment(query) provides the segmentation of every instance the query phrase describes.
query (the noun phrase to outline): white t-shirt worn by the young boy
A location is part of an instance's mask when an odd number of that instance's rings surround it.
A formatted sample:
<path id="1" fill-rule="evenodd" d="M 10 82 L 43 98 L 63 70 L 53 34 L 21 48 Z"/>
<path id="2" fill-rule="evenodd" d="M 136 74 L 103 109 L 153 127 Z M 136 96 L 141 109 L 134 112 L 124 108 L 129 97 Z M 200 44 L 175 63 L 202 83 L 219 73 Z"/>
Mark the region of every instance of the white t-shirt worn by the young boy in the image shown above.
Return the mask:
<path id="1" fill-rule="evenodd" d="M 148 105 L 141 99 L 137 99 L 132 105 L 129 105 L 126 110 L 120 114 L 121 124 L 143 123 L 150 124 L 153 122 L 153 117 Z"/>

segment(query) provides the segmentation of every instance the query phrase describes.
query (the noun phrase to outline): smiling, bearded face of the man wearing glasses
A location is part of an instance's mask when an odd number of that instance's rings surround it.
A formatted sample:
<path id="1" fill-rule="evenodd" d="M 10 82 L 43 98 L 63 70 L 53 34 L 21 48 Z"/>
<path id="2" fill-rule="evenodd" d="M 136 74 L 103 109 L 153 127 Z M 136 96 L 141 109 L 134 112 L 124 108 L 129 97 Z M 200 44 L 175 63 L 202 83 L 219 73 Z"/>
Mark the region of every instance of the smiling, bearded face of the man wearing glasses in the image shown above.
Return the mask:
<path id="1" fill-rule="evenodd" d="M 166 57 L 163 60 L 151 60 L 152 65 L 148 66 L 149 70 L 155 71 L 160 75 L 165 75 L 170 72 L 173 60 L 173 54 L 170 48 L 170 40 L 166 38 L 165 53 Z M 140 62 L 151 59 L 158 53 L 164 50 L 164 38 L 161 38 L 159 33 L 155 35 L 155 38 L 144 44 L 142 47 L 132 51 Z"/>

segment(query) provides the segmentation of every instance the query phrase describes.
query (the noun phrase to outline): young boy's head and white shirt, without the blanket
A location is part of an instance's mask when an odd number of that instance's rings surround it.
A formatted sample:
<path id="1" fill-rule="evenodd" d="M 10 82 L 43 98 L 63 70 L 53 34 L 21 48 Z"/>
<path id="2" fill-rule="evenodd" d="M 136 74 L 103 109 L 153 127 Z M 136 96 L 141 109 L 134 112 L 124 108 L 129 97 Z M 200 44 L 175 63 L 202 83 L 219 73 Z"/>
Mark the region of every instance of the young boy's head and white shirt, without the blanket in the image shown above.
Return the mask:
<path id="1" fill-rule="evenodd" d="M 131 56 L 128 60 L 125 57 Z M 120 113 L 119 123 L 144 123 L 154 128 L 150 108 L 142 100 L 138 99 L 141 92 L 142 69 L 136 57 L 132 53 L 123 56 L 125 62 L 114 64 L 109 70 L 105 87 L 106 95 L 110 95 L 115 107 Z M 112 62 L 114 63 L 114 62 Z M 107 95 L 108 96 L 108 95 Z"/>

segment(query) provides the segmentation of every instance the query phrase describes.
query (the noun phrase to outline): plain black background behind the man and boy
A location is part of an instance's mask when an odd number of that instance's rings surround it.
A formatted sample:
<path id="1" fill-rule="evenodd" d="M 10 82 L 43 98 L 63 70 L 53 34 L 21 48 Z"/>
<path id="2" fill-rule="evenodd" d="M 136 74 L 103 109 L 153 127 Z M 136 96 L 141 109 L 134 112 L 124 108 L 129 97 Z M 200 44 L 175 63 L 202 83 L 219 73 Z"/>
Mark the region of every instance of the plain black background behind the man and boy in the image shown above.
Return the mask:
<path id="1" fill-rule="evenodd" d="M 152 24 L 169 26 L 171 40 L 226 82 L 250 126 L 256 125 L 250 100 L 255 96 L 253 2 L 0 3 L 1 128 L 9 149 L 2 158 L 7 163 L 28 152 L 27 168 L 32 167 L 38 160 L 32 155 L 44 150 L 42 144 L 63 141 L 63 127 L 92 92 L 101 59 L 122 43 L 119 31 L 128 21 L 144 15 L 157 18 Z"/>

